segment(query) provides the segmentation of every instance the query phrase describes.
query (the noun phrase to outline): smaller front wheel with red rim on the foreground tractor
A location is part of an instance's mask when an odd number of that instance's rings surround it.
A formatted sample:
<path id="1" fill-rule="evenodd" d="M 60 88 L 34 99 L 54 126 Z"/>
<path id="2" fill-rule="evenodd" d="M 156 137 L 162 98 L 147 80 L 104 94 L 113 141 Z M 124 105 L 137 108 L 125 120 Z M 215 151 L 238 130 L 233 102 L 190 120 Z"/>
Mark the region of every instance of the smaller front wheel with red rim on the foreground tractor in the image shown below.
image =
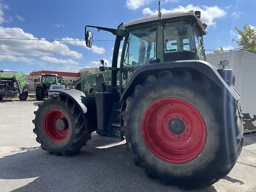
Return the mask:
<path id="1" fill-rule="evenodd" d="M 66 95 L 54 94 L 44 99 L 35 111 L 33 132 L 41 148 L 56 155 L 76 153 L 89 140 L 88 122 L 75 101 Z M 58 121 L 63 124 L 57 127 Z"/>

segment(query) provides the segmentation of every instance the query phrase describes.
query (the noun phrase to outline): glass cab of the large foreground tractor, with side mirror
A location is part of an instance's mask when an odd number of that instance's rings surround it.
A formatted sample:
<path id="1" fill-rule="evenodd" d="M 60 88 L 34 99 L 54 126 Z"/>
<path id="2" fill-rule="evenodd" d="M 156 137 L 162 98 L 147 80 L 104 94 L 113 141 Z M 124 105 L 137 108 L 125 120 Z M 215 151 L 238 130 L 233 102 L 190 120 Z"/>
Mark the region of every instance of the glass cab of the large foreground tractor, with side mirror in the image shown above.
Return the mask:
<path id="1" fill-rule="evenodd" d="M 111 75 L 103 73 L 103 76 L 106 74 L 108 77 L 111 76 L 111 85 L 106 83 L 107 87 L 116 88 L 121 96 L 132 74 L 141 66 L 178 60 L 205 61 L 203 35 L 206 34 L 207 25 L 202 23 L 200 17 L 200 11 L 164 14 L 159 12 L 158 15 L 122 23 L 117 29 L 87 25 L 85 41 L 87 47 L 92 47 L 93 34 L 87 30 L 89 27 L 116 35 L 112 67 L 103 65 L 100 66 L 100 71 L 111 72 Z M 122 40 L 124 43 L 121 62 L 117 63 Z M 117 68 L 119 65 L 120 68 Z M 96 84 L 95 87 L 97 87 Z M 94 96 L 97 91 L 95 89 L 91 95 Z"/>

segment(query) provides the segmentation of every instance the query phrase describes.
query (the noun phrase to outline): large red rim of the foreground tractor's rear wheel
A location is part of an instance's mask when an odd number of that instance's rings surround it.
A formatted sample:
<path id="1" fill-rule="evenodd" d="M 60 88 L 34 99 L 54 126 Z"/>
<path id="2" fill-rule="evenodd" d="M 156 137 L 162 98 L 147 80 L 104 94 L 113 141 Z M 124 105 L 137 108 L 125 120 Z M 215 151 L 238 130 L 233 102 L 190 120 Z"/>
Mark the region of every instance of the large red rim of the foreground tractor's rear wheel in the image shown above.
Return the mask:
<path id="1" fill-rule="evenodd" d="M 202 116 L 179 98 L 152 103 L 143 115 L 141 131 L 149 150 L 169 163 L 191 161 L 200 154 L 206 140 Z"/>

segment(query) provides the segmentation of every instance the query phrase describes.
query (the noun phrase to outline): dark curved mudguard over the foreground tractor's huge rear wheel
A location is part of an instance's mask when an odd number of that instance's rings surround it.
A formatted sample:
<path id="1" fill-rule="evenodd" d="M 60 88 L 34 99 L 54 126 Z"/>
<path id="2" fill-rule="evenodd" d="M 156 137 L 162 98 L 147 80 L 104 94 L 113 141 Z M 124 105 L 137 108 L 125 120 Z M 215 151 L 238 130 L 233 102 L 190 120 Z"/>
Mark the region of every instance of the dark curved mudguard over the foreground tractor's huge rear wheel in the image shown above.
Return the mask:
<path id="1" fill-rule="evenodd" d="M 210 63 L 202 60 L 179 60 L 179 61 L 170 61 L 170 62 L 162 62 L 162 63 L 152 63 L 143 65 L 138 68 L 131 77 L 131 80 L 128 82 L 122 97 L 120 99 L 120 103 L 125 100 L 128 96 L 130 96 L 137 84 L 142 84 L 147 76 L 157 74 L 163 70 L 170 70 L 175 68 L 184 68 L 184 69 L 192 69 L 196 70 L 206 77 L 208 77 L 213 83 L 219 86 L 227 95 L 233 97 L 234 100 L 239 100 L 239 93 L 233 89 L 232 86 L 228 86 L 228 84 L 223 80 L 220 74 L 217 72 L 217 69 L 211 65 Z"/>

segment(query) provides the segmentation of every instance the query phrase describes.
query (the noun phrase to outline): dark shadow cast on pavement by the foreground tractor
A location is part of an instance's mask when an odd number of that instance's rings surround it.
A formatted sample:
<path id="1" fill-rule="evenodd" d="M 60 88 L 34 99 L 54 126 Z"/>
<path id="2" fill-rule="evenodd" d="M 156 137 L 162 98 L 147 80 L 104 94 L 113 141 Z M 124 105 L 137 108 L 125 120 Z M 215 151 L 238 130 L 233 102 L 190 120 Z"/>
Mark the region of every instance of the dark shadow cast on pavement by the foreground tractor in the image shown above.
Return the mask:
<path id="1" fill-rule="evenodd" d="M 0 179 L 17 179 L 13 184 L 19 179 L 38 177 L 15 191 L 184 191 L 148 178 L 132 163 L 132 154 L 124 145 L 102 148 L 115 142 L 93 133 L 87 146 L 73 156 L 54 156 L 38 147 L 21 147 L 20 153 L 0 159 Z M 211 186 L 190 191 L 216 189 Z"/>

